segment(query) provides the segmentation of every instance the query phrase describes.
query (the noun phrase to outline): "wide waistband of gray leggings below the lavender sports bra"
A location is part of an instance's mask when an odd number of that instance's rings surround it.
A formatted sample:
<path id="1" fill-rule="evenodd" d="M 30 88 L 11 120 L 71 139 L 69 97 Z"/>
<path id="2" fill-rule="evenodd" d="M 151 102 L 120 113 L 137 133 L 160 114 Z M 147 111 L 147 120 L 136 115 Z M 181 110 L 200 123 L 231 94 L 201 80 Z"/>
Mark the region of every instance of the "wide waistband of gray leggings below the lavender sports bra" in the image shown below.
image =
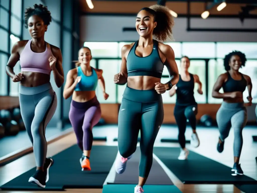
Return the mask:
<path id="1" fill-rule="evenodd" d="M 40 86 L 35 86 L 35 87 L 26 87 L 20 84 L 19 93 L 24 95 L 34 95 L 50 89 L 53 89 L 50 82 L 46 84 L 42 84 Z"/>

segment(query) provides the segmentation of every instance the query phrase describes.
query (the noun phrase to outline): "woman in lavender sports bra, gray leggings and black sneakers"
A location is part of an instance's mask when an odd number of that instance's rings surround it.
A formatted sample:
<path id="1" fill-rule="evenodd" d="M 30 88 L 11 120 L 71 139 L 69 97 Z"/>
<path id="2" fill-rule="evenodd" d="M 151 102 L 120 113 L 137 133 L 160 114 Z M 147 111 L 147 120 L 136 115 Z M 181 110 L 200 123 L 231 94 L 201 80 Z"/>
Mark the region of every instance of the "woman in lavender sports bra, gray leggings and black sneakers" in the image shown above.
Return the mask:
<path id="1" fill-rule="evenodd" d="M 34 8 L 27 8 L 25 27 L 29 29 L 32 39 L 14 44 L 6 66 L 6 73 L 12 81 L 20 82 L 21 115 L 33 144 L 36 171 L 29 182 L 42 188 L 49 180 L 49 168 L 53 165 L 53 159 L 46 158 L 45 139 L 45 128 L 57 107 L 57 97 L 50 83 L 51 72 L 58 87 L 64 82 L 61 50 L 44 40 L 50 22 L 51 13 L 47 7 L 35 4 Z M 19 60 L 21 72 L 15 74 L 13 67 Z"/>

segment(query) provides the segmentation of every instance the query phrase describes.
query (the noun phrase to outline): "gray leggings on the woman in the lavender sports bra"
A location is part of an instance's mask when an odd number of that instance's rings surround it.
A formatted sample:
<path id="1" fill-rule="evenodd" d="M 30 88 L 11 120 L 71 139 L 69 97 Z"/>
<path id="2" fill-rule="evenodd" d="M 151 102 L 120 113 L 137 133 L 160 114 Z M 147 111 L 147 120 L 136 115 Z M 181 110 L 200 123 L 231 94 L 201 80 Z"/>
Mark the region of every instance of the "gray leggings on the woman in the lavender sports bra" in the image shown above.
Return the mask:
<path id="1" fill-rule="evenodd" d="M 45 127 L 54 115 L 57 97 L 50 83 L 19 87 L 21 116 L 33 144 L 36 166 L 42 167 L 47 155 Z"/>

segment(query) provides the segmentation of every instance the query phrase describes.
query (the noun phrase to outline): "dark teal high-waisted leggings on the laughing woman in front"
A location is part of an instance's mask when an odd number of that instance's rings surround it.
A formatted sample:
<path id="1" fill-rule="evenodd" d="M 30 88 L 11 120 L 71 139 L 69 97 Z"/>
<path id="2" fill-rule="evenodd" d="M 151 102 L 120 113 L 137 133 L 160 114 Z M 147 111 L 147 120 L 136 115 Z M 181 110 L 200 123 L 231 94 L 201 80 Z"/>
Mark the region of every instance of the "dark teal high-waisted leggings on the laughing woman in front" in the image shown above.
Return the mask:
<path id="1" fill-rule="evenodd" d="M 144 102 L 142 102 L 144 101 Z M 118 115 L 118 149 L 127 158 L 136 151 L 141 133 L 139 176 L 147 178 L 153 162 L 153 144 L 163 122 L 161 94 L 126 87 Z"/>

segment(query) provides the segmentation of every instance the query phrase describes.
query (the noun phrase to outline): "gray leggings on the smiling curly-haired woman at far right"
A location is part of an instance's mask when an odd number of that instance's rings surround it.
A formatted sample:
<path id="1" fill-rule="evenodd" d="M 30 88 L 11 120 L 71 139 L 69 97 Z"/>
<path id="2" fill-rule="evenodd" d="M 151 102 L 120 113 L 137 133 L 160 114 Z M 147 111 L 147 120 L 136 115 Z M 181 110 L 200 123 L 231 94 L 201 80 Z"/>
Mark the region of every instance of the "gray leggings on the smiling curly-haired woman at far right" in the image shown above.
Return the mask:
<path id="1" fill-rule="evenodd" d="M 234 156 L 240 157 L 243 147 L 242 130 L 247 122 L 247 111 L 244 103 L 227 103 L 223 101 L 217 112 L 216 119 L 222 141 L 228 137 L 230 128 L 234 129 Z"/>

